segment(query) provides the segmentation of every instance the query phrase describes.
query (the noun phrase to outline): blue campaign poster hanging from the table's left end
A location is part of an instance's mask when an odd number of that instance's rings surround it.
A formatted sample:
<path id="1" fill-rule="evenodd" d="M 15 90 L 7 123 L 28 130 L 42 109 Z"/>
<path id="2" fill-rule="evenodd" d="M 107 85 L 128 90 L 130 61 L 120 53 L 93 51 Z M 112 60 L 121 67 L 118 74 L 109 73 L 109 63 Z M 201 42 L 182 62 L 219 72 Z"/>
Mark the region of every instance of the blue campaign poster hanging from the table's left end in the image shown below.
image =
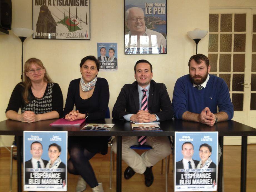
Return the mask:
<path id="1" fill-rule="evenodd" d="M 67 131 L 24 131 L 24 191 L 67 191 Z"/>

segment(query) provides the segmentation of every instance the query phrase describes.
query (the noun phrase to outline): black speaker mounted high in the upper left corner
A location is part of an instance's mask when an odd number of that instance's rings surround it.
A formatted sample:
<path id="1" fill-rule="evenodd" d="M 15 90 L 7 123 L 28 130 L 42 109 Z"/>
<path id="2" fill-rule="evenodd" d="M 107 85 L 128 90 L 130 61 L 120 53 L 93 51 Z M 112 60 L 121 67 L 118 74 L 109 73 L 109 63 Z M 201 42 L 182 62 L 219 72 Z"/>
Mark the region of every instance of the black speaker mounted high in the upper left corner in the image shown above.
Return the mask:
<path id="1" fill-rule="evenodd" d="M 12 27 L 12 1 L 0 0 L 0 27 L 10 30 Z"/>

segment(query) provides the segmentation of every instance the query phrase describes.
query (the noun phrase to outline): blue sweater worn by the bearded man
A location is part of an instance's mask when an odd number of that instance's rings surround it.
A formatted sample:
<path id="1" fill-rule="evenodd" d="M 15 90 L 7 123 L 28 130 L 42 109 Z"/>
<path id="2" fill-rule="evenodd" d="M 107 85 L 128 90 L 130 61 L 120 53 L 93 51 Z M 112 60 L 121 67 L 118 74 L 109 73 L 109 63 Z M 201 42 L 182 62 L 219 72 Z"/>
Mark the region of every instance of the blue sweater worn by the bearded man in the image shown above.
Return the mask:
<path id="1" fill-rule="evenodd" d="M 201 90 L 193 87 L 189 74 L 180 77 L 174 86 L 172 105 L 177 119 L 182 119 L 182 114 L 186 111 L 200 114 L 205 107 L 212 113 L 217 113 L 217 106 L 219 112 L 228 114 L 228 120 L 234 115 L 228 86 L 222 78 L 215 75 L 210 75 L 206 87 Z"/>

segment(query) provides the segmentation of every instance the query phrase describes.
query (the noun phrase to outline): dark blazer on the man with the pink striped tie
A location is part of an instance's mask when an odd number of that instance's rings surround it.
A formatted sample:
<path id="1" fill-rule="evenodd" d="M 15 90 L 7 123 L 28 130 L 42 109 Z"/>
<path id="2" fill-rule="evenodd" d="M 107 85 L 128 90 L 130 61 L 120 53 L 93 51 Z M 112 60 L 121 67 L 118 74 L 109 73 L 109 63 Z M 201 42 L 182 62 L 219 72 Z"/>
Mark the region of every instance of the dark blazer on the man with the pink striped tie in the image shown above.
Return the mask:
<path id="1" fill-rule="evenodd" d="M 121 89 L 113 107 L 113 119 L 124 119 L 127 114 L 136 114 L 140 110 L 137 81 L 125 84 Z M 159 121 L 173 118 L 173 108 L 170 97 L 163 83 L 156 83 L 151 79 L 148 94 L 148 111 L 156 114 Z"/>

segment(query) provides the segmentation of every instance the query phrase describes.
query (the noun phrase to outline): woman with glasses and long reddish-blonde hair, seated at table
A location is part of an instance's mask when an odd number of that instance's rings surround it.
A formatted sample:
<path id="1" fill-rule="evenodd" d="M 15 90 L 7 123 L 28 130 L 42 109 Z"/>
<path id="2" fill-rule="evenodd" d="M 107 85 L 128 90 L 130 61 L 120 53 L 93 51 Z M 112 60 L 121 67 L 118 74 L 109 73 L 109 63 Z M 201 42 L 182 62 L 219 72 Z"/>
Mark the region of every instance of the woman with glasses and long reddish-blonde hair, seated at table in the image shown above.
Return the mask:
<path id="1" fill-rule="evenodd" d="M 21 108 L 21 114 L 18 113 Z M 33 123 L 62 116 L 63 96 L 57 83 L 52 83 L 42 61 L 30 58 L 24 65 L 24 80 L 18 83 L 6 109 L 6 117 Z"/>

